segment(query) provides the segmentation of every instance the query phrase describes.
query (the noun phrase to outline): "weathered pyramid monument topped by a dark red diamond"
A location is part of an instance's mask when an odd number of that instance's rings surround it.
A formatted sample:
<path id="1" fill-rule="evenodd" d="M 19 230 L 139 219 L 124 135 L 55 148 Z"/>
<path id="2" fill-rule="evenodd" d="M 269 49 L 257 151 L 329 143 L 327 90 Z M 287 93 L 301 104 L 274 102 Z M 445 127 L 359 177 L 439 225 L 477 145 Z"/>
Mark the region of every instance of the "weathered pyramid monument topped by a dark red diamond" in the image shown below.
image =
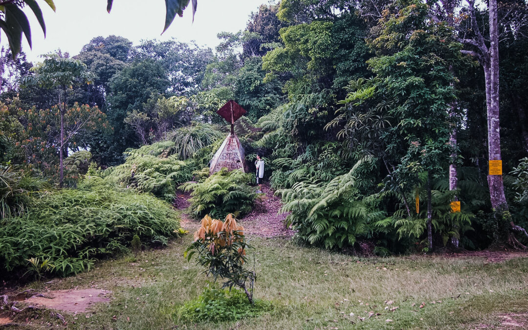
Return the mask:
<path id="1" fill-rule="evenodd" d="M 231 124 L 231 132 L 225 138 L 220 148 L 216 150 L 213 159 L 211 159 L 209 173 L 213 174 L 218 172 L 222 167 L 227 167 L 229 171 L 240 168 L 243 172 L 247 172 L 244 149 L 237 135 L 234 134 L 233 129 L 235 120 L 246 114 L 246 110 L 237 102 L 230 100 L 220 110 L 216 111 L 216 113 Z"/>

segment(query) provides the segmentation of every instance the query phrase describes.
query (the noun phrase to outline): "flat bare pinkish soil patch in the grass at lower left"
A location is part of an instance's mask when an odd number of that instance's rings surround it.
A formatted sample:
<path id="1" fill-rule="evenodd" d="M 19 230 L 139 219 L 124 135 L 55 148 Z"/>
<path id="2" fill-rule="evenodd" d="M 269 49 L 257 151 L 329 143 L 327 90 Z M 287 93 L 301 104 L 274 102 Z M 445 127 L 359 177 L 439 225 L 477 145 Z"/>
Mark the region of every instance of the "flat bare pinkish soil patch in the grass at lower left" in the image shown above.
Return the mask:
<path id="1" fill-rule="evenodd" d="M 93 303 L 110 301 L 109 290 L 102 289 L 69 289 L 48 291 L 42 296 L 33 296 L 24 303 L 34 306 L 63 310 L 70 313 L 84 313 Z"/>

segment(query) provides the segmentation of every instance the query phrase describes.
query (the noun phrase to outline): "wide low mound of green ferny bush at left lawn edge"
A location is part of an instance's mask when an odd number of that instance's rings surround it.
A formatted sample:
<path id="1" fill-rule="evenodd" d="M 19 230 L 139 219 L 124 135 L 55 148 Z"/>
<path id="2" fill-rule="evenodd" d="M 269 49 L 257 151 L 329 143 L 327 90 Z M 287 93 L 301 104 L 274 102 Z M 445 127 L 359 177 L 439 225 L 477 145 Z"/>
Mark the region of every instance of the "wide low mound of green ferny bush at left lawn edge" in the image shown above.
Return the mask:
<path id="1" fill-rule="evenodd" d="M 128 250 L 135 234 L 145 243 L 166 245 L 178 228 L 168 203 L 90 177 L 78 189 L 43 194 L 23 216 L 5 219 L 0 269 L 24 271 L 27 259 L 37 258 L 49 260 L 53 274 L 77 274 L 96 258 Z"/>

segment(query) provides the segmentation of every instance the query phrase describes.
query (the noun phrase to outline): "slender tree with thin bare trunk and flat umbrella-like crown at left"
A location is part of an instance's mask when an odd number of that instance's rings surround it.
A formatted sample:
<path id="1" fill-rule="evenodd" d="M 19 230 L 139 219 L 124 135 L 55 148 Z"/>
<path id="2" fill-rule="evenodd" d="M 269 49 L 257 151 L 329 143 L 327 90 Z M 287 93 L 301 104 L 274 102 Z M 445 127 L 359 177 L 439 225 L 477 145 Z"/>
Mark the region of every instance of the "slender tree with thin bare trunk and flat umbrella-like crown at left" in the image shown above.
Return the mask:
<path id="1" fill-rule="evenodd" d="M 66 137 L 64 131 L 65 115 L 67 108 L 67 90 L 73 87 L 76 80 L 80 80 L 85 83 L 91 83 L 93 81 L 93 73 L 87 71 L 86 64 L 79 60 L 73 60 L 69 58 L 61 58 L 58 54 L 46 55 L 44 62 L 38 63 L 32 68 L 35 72 L 34 76 L 25 77 L 23 83 L 25 85 L 36 84 L 48 89 L 57 89 L 58 92 L 58 105 L 60 109 L 60 144 L 59 144 L 59 156 L 60 156 L 60 178 L 59 185 L 62 187 L 64 180 L 64 166 L 63 157 L 67 150 L 64 146 L 68 144 L 68 140 L 71 135 Z"/>

